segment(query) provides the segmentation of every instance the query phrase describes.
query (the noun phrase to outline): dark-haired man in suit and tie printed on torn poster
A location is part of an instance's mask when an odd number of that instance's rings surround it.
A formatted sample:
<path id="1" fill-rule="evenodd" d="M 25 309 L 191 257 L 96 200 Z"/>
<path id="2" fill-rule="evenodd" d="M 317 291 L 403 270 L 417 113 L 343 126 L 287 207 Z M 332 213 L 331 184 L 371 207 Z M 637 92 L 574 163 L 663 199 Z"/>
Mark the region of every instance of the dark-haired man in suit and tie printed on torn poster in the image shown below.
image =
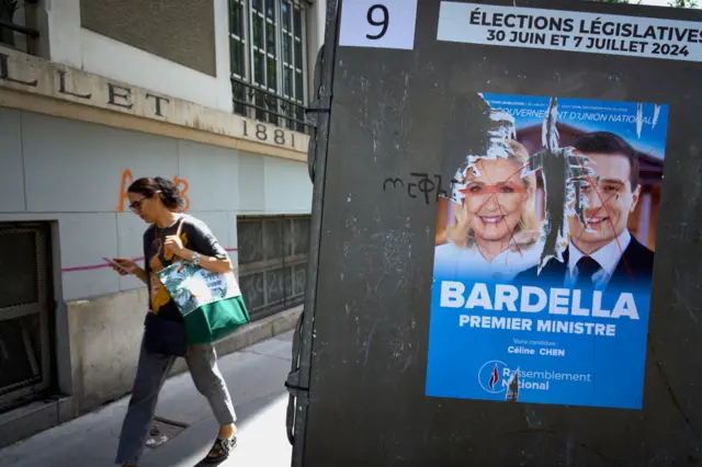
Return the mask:
<path id="1" fill-rule="evenodd" d="M 587 198 L 586 225 L 577 215 L 568 216 L 570 242 L 564 261 L 552 259 L 541 272 L 531 267 L 516 282 L 602 291 L 649 289 L 654 252 L 626 227 L 641 196 L 635 149 L 609 132 L 585 134 L 574 148 L 589 159 L 593 171 L 575 181 Z"/>

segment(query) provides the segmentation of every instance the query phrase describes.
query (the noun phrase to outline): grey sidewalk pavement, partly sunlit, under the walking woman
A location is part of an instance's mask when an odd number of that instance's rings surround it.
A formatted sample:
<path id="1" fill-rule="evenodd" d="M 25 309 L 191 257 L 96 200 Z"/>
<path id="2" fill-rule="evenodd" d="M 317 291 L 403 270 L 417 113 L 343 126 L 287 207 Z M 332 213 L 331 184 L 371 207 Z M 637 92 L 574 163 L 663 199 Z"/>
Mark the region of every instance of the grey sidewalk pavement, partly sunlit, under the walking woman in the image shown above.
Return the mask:
<path id="1" fill-rule="evenodd" d="M 283 386 L 291 366 L 293 331 L 219 358 L 237 411 L 238 447 L 222 467 L 291 465 L 285 434 L 287 392 Z M 129 399 L 39 433 L 0 451 L 0 466 L 102 467 L 114 465 L 120 428 Z M 184 373 L 166 381 L 156 417 L 185 424 L 174 437 L 163 430 L 152 440 L 169 441 L 146 447 L 140 467 L 201 465 L 217 434 L 207 401 Z M 172 426 L 172 425 L 171 425 Z M 174 426 L 178 430 L 178 426 Z M 211 465 L 211 464 L 202 464 Z"/>

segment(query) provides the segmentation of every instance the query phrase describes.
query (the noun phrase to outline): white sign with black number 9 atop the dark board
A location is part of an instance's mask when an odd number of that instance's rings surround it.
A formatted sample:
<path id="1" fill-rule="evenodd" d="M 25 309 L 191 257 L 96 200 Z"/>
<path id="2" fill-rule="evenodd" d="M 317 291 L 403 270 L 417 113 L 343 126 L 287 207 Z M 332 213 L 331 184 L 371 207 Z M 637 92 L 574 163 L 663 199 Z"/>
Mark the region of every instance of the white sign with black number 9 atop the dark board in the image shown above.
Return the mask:
<path id="1" fill-rule="evenodd" d="M 339 45 L 415 47 L 418 0 L 342 0 Z"/>

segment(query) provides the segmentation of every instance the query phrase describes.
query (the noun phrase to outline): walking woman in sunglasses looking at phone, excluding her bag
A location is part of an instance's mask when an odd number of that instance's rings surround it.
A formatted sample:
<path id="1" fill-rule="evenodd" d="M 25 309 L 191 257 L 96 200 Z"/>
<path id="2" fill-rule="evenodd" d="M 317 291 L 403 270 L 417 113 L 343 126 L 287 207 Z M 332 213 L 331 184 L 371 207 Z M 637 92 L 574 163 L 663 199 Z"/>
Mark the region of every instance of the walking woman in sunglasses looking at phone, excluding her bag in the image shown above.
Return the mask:
<path id="1" fill-rule="evenodd" d="M 203 221 L 179 213 L 182 198 L 172 182 L 160 176 L 139 179 L 128 187 L 127 194 L 129 208 L 151 224 L 144 232 L 145 267 L 115 258 L 114 262 L 121 267 L 113 269 L 121 275 L 133 274 L 147 285 L 149 311 L 116 464 L 137 466 L 151 428 L 158 394 L 179 356 L 185 358 L 195 387 L 207 398 L 219 422 L 217 438 L 205 457 L 207 463 L 219 463 L 229 456 L 237 441 L 236 414 L 217 367 L 217 355 L 212 345 L 185 344 L 183 318 L 156 273 L 182 260 L 207 271 L 225 273 L 231 271 L 231 261 Z"/>

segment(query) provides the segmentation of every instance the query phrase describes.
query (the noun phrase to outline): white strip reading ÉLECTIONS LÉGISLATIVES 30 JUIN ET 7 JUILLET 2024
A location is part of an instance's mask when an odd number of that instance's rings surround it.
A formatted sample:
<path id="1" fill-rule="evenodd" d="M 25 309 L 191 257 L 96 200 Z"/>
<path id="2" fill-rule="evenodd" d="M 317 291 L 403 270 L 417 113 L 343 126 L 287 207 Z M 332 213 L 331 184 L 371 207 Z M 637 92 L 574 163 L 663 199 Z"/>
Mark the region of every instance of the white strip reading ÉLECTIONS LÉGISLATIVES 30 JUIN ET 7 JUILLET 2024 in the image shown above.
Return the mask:
<path id="1" fill-rule="evenodd" d="M 438 41 L 702 61 L 702 23 L 441 2 Z"/>

